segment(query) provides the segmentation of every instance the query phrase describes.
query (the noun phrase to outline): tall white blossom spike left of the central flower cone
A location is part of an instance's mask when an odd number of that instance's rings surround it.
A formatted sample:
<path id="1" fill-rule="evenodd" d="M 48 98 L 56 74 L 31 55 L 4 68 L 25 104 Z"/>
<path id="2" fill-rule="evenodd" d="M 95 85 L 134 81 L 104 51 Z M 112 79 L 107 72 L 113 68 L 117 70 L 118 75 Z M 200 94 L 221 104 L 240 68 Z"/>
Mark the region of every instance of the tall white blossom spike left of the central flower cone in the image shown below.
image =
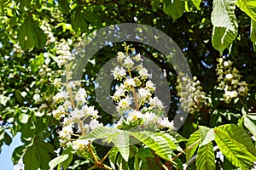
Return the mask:
<path id="1" fill-rule="evenodd" d="M 64 42 L 62 45 L 67 45 Z M 65 49 L 68 49 L 65 47 Z M 61 49 L 57 54 L 68 54 L 68 50 Z M 68 51 L 68 52 L 67 52 Z M 68 56 L 68 57 L 67 57 Z M 62 57 L 62 63 L 69 65 L 69 55 Z M 53 102 L 58 107 L 52 112 L 56 120 L 62 123 L 62 129 L 59 131 L 60 144 L 63 147 L 71 146 L 73 150 L 81 151 L 87 149 L 89 141 L 78 139 L 78 136 L 84 137 L 96 127 L 103 126 L 96 119 L 99 118 L 98 111 L 94 106 L 87 105 L 87 94 L 84 88 L 81 88 L 81 82 L 71 81 L 71 71 L 66 72 L 66 83 L 62 83 L 61 91 L 53 97 Z M 60 82 L 61 83 L 61 82 Z M 59 84 L 59 83 L 55 83 Z M 76 127 L 76 130 L 75 130 Z"/>

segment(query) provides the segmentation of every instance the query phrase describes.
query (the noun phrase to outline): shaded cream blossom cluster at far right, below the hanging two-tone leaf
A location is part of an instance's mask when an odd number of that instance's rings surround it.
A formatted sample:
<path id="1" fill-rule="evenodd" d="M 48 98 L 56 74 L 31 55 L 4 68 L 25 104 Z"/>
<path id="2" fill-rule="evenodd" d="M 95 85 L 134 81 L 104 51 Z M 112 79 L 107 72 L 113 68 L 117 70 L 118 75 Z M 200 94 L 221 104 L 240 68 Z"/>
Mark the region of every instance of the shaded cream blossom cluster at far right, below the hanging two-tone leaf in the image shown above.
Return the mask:
<path id="1" fill-rule="evenodd" d="M 237 98 L 239 95 L 247 95 L 247 82 L 241 81 L 241 75 L 235 67 L 232 67 L 230 60 L 224 61 L 224 58 L 218 59 L 217 65 L 218 74 L 218 88 L 224 90 L 224 101 L 230 103 L 232 99 Z"/>

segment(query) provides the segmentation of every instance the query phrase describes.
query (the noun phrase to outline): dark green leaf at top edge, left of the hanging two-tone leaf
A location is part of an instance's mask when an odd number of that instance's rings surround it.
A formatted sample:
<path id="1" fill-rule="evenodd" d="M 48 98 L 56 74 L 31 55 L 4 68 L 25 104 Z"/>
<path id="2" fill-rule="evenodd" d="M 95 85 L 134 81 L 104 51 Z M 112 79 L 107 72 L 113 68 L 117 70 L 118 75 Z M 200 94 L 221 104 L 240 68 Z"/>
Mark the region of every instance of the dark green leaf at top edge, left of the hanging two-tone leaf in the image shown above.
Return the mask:
<path id="1" fill-rule="evenodd" d="M 182 17 L 185 10 L 185 3 L 182 0 L 163 0 L 164 13 L 171 15 L 173 20 L 177 20 Z"/>

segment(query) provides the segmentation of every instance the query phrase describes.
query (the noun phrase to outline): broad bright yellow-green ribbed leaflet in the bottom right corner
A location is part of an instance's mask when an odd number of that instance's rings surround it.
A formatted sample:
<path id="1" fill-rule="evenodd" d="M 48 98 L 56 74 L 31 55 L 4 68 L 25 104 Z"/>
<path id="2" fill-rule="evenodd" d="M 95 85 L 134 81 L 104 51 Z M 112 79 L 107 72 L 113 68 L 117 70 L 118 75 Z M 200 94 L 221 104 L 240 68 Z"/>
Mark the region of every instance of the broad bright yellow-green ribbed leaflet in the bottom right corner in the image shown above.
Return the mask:
<path id="1" fill-rule="evenodd" d="M 251 169 L 256 149 L 247 132 L 234 124 L 214 128 L 215 141 L 224 156 L 236 167 Z"/>

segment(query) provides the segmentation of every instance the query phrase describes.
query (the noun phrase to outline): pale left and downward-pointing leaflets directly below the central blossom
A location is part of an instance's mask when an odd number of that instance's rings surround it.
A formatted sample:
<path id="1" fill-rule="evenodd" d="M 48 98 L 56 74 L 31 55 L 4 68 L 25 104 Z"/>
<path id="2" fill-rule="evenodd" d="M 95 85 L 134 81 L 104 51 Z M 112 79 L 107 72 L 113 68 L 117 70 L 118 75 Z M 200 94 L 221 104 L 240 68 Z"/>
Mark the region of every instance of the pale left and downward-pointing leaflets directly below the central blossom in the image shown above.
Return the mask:
<path id="1" fill-rule="evenodd" d="M 107 139 L 108 143 L 113 142 L 124 160 L 128 161 L 130 155 L 130 138 L 127 132 L 113 127 L 96 127 L 84 139 Z"/>

